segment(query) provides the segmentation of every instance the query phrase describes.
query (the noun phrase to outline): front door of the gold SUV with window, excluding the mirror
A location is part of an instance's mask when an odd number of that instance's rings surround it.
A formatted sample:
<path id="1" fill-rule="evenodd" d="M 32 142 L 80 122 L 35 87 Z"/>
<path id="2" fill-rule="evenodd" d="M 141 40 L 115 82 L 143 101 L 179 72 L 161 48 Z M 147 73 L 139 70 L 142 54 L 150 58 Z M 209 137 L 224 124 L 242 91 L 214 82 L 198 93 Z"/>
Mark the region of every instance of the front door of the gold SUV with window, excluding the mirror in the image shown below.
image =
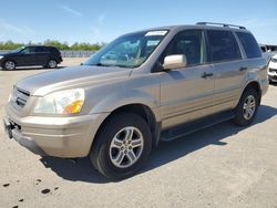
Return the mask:
<path id="1" fill-rule="evenodd" d="M 167 46 L 166 55 L 184 54 L 185 67 L 161 74 L 163 127 L 194 121 L 213 113 L 213 65 L 207 64 L 204 31 L 186 30 Z"/>

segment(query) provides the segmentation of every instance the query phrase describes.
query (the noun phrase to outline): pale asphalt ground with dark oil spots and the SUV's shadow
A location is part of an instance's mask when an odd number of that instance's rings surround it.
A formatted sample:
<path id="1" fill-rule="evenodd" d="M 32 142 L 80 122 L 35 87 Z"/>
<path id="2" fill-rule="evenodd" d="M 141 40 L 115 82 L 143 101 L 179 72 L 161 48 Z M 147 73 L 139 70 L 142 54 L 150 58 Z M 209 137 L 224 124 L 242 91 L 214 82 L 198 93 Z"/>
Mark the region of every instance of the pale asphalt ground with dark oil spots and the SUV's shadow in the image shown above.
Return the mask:
<path id="1" fill-rule="evenodd" d="M 83 59 L 65 59 L 62 66 Z M 44 72 L 0 71 L 0 116 L 12 85 Z M 0 207 L 277 207 L 277 85 L 247 128 L 225 122 L 161 143 L 134 177 L 111 181 L 88 158 L 33 155 L 0 128 Z"/>

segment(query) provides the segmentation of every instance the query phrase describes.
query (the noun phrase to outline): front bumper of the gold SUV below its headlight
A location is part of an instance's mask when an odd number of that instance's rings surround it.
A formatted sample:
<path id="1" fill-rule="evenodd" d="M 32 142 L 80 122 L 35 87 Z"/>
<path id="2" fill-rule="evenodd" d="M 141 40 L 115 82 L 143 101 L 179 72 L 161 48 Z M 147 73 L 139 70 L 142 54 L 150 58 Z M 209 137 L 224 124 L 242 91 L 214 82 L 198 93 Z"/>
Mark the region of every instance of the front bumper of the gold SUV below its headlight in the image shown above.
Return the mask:
<path id="1" fill-rule="evenodd" d="M 93 138 L 107 114 L 72 117 L 19 117 L 7 108 L 4 129 L 10 138 L 39 155 L 88 156 Z"/>

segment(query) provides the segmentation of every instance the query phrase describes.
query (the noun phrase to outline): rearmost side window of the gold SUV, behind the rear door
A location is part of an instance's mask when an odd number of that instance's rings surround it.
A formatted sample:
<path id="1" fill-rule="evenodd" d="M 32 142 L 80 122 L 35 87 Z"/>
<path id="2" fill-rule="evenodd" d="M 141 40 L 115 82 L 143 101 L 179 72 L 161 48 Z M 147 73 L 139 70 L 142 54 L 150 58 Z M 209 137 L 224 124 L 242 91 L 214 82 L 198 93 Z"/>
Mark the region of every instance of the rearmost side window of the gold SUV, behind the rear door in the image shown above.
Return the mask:
<path id="1" fill-rule="evenodd" d="M 258 43 L 257 43 L 257 41 L 255 40 L 255 38 L 253 37 L 252 33 L 237 32 L 236 34 L 237 34 L 240 43 L 243 44 L 246 56 L 248 59 L 260 58 L 261 56 Z"/>

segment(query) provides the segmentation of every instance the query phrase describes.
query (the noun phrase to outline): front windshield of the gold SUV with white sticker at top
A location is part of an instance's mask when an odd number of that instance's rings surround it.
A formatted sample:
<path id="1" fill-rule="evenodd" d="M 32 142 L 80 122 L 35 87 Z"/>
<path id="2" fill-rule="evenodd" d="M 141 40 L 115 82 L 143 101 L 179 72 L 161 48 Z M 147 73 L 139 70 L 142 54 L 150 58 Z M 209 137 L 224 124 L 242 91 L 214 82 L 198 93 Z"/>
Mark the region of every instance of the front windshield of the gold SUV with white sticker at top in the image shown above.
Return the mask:
<path id="1" fill-rule="evenodd" d="M 153 53 L 167 31 L 146 31 L 121 37 L 92 55 L 84 65 L 137 67 Z"/>

